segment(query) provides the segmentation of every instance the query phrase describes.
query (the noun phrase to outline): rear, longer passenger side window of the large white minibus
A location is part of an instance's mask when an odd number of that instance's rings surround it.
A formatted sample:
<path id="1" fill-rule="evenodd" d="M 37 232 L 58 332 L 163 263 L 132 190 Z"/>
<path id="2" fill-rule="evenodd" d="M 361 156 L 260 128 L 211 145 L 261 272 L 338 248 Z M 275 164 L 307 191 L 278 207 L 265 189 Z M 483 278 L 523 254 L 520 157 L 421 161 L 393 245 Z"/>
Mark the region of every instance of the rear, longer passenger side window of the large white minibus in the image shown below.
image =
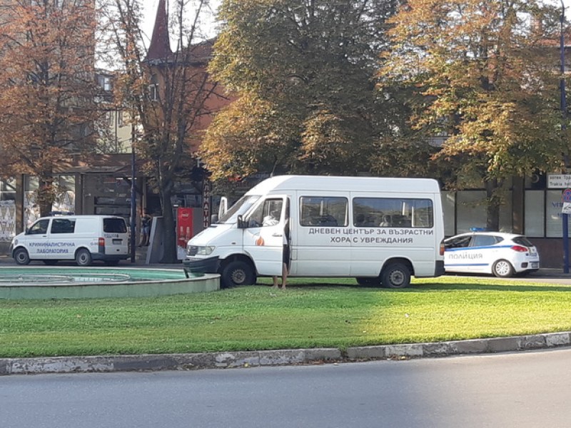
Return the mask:
<path id="1" fill-rule="evenodd" d="M 433 201 L 411 198 L 354 198 L 356 228 L 432 228 Z"/>

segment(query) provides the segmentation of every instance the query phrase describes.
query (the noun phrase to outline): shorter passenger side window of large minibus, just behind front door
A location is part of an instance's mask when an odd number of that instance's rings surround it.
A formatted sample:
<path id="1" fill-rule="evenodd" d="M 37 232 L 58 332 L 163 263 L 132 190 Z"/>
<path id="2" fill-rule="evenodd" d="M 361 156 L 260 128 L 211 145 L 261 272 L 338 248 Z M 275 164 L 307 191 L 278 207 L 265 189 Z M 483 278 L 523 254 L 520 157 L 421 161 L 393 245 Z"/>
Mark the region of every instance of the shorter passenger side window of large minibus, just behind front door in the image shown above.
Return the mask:
<path id="1" fill-rule="evenodd" d="M 348 200 L 338 196 L 302 196 L 300 198 L 300 225 L 348 225 Z"/>

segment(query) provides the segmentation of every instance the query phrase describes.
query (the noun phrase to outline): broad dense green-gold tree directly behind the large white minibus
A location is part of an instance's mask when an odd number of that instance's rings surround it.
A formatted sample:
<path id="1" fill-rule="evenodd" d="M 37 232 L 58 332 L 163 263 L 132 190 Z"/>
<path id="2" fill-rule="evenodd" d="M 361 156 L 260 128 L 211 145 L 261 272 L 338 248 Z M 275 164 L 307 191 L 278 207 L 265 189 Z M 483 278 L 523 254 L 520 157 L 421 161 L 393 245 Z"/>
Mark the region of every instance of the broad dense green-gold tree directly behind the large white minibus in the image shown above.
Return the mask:
<path id="1" fill-rule="evenodd" d="M 236 101 L 203 142 L 213 177 L 374 170 L 402 129 L 375 78 L 396 4 L 223 0 L 209 70 Z"/>

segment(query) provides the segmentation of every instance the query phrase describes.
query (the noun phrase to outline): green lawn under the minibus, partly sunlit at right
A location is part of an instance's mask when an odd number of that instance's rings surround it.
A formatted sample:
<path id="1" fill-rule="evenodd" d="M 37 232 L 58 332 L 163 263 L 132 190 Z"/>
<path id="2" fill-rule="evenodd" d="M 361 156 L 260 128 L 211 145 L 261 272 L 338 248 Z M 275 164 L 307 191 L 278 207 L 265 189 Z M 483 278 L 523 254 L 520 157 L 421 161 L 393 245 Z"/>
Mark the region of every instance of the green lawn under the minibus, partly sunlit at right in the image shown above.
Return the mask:
<path id="1" fill-rule="evenodd" d="M 349 347 L 571 330 L 571 285 L 292 279 L 160 298 L 0 301 L 0 357 Z"/>

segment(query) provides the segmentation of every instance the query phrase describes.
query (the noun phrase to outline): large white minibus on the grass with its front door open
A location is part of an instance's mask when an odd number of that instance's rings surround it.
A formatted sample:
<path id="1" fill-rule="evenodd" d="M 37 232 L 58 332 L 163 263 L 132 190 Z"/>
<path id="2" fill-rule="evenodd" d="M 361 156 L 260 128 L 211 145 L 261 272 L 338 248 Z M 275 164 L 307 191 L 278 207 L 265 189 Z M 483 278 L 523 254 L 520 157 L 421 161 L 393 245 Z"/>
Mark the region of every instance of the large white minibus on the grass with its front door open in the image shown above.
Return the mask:
<path id="1" fill-rule="evenodd" d="M 263 225 L 279 212 L 279 221 Z M 289 225 L 290 277 L 355 277 L 407 287 L 411 275 L 444 274 L 440 188 L 428 178 L 280 175 L 256 185 L 187 245 L 191 274 L 219 273 L 221 287 L 281 275 Z"/>

